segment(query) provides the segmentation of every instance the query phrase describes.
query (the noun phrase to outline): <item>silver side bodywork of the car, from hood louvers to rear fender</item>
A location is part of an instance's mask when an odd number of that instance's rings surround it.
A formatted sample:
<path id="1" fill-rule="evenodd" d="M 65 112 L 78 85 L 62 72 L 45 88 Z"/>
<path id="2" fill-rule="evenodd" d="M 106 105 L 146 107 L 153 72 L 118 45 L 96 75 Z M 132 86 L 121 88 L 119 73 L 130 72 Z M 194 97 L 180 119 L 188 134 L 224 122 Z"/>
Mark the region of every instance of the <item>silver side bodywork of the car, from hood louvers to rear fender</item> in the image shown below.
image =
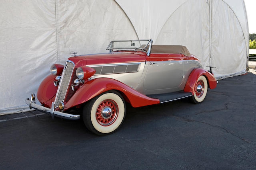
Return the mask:
<path id="1" fill-rule="evenodd" d="M 134 63 L 93 64 L 89 67 L 139 64 L 138 70 L 125 73 L 95 74 L 90 79 L 107 77 L 118 80 L 142 94 L 162 94 L 183 90 L 190 72 L 202 68 L 197 60 L 147 61 Z"/>

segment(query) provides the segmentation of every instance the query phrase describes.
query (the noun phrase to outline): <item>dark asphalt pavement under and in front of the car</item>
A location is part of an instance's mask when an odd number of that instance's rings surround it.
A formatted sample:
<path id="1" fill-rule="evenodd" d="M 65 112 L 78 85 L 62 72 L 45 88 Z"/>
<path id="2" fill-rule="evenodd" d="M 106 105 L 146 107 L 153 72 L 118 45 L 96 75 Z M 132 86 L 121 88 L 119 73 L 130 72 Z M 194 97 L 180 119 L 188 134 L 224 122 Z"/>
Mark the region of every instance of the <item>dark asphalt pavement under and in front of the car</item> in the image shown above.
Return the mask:
<path id="1" fill-rule="evenodd" d="M 0 116 L 0 169 L 256 169 L 256 74 L 219 80 L 201 104 L 129 107 L 104 137 L 38 111 Z"/>

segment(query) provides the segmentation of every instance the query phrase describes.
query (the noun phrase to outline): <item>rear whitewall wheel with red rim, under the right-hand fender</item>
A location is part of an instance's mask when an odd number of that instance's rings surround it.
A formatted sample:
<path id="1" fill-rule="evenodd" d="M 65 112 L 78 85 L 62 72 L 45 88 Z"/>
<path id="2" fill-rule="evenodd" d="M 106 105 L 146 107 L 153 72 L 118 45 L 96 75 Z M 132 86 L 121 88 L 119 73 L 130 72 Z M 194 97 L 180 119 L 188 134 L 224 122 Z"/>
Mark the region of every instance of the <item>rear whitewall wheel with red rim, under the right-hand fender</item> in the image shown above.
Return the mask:
<path id="1" fill-rule="evenodd" d="M 207 93 L 207 80 L 205 76 L 200 76 L 196 82 L 194 95 L 192 96 L 192 102 L 198 104 L 202 102 Z"/>

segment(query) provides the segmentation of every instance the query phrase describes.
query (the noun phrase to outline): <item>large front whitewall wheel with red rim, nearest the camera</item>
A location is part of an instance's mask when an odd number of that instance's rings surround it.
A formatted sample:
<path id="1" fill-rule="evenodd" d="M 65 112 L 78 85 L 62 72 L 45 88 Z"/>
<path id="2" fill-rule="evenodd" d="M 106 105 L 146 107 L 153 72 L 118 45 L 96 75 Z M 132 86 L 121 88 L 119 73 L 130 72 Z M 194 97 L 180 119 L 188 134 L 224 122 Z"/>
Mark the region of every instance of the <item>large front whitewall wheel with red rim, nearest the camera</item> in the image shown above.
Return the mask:
<path id="1" fill-rule="evenodd" d="M 114 133 L 123 123 L 126 106 L 123 97 L 116 91 L 100 94 L 83 108 L 86 127 L 97 135 Z"/>

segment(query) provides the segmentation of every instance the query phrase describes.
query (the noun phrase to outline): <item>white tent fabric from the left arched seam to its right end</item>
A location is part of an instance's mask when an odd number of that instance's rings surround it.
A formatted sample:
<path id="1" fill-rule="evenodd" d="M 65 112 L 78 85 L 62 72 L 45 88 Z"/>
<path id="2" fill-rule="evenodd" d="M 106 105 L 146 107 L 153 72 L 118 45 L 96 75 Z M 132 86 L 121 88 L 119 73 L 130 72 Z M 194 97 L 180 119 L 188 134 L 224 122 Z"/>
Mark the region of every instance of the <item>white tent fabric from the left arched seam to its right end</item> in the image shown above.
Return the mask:
<path id="1" fill-rule="evenodd" d="M 243 0 L 142 1 L 136 6 L 136 0 L 116 2 L 140 39 L 187 46 L 204 68 L 212 62 L 219 79 L 245 72 L 249 32 Z"/>

